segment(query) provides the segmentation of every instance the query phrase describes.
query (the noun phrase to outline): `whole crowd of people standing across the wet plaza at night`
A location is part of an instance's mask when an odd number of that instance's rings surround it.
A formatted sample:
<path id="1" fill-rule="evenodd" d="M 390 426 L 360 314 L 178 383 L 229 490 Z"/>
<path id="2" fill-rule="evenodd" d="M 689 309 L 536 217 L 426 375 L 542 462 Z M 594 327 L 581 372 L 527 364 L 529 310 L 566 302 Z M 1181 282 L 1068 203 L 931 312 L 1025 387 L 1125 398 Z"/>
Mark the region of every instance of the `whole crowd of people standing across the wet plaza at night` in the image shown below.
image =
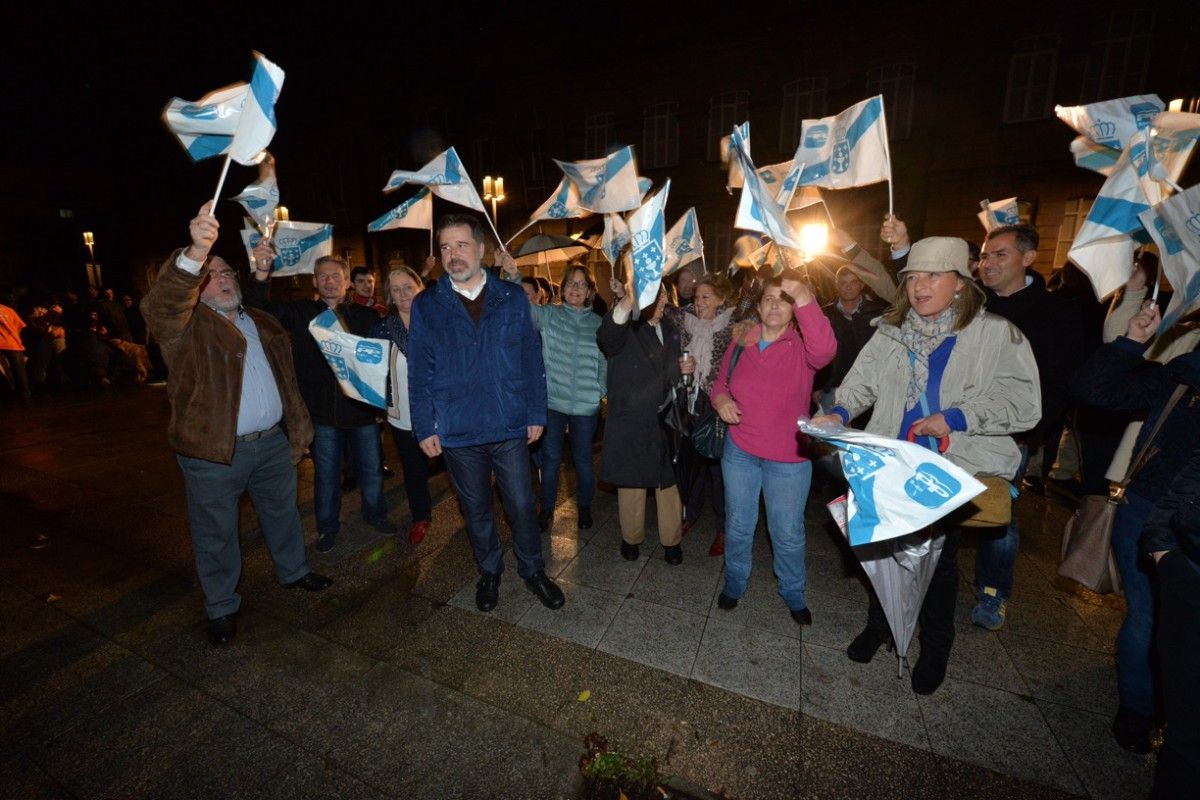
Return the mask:
<path id="1" fill-rule="evenodd" d="M 144 323 L 132 301 L 110 295 L 71 313 L 38 308 L 26 331 L 0 306 L 0 363 L 16 375 L 22 359 L 13 351 L 24 348 L 30 378 L 14 378 L 14 386 L 28 395 L 55 368 L 70 373 L 64 354 L 72 348 L 90 365 L 88 342 L 144 344 L 149 332 L 158 343 L 215 644 L 236 633 L 244 492 L 281 584 L 319 591 L 331 583 L 308 569 L 296 511 L 295 464 L 306 449 L 318 553 L 338 541 L 344 469 L 361 492 L 364 522 L 400 533 L 383 492 L 380 423 L 400 455 L 414 545 L 432 523 L 431 462 L 444 464 L 479 569 L 481 612 L 499 602 L 504 572 L 493 486 L 520 577 L 548 608 L 565 602 L 546 576 L 541 534 L 557 530 L 556 513 L 570 507 L 558 503 L 569 447 L 580 529 L 593 524 L 598 481 L 616 488 L 614 558 L 641 558 L 650 494 L 670 565 L 683 561 L 682 539 L 712 513 L 708 554 L 724 559 L 718 607 L 726 613 L 737 613 L 746 591 L 762 503 L 770 569 L 797 625 L 821 613 L 806 595 L 805 504 L 812 487 L 833 497 L 841 481 L 835 463 L 829 469 L 797 432 L 802 417 L 940 450 L 998 480 L 1013 504 L 1022 491 L 1067 503 L 1104 493 L 1130 453 L 1148 452 L 1114 531 L 1127 604 L 1114 735 L 1150 752 L 1165 722 L 1160 784 L 1195 775 L 1200 419 L 1192 417 L 1200 408 L 1200 333 L 1183 324 L 1156 337 L 1166 294 L 1147 299 L 1158 282 L 1148 252 L 1100 305 L 1073 266 L 1050 281 L 1033 269 L 1039 242 L 1027 224 L 992 228 L 982 245 L 911 242 L 895 217 L 880 234 L 888 245 L 882 261 L 832 230 L 829 252 L 808 265 L 728 276 L 685 266 L 662 281 L 652 305 L 636 308 L 631 277 L 611 282 L 610 307 L 583 260 L 570 263 L 557 285 L 522 277 L 503 249 L 486 266 L 481 221 L 450 215 L 436 231 L 438 279 L 427 277 L 432 259 L 421 273 L 394 269 L 379 302 L 371 270 L 325 257 L 314 267 L 314 296 L 281 302 L 270 296 L 270 242 L 253 251 L 252 276 L 239 282 L 211 252 L 218 227 L 206 205 L 191 222 L 191 243 L 167 260 L 143 300 Z M 389 343 L 385 411 L 341 390 L 307 330 L 326 309 L 347 332 Z M 1160 415 L 1165 425 L 1144 450 Z M 1018 516 L 994 528 L 961 523 L 952 515 L 911 535 L 942 541 L 919 610 L 911 682 L 920 694 L 937 691 L 950 658 L 960 545 L 976 547 L 973 624 L 1002 628 L 1020 590 Z M 892 638 L 880 597 L 869 595 L 865 626 L 847 643 L 856 662 Z"/>

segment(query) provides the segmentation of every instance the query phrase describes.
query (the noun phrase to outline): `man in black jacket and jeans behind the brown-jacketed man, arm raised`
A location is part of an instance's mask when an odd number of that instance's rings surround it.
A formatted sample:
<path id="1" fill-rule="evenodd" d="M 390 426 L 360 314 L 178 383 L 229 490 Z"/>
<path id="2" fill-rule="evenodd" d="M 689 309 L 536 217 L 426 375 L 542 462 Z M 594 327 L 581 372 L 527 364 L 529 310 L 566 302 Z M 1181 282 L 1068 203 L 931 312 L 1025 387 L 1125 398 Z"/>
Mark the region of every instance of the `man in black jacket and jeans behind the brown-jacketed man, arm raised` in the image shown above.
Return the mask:
<path id="1" fill-rule="evenodd" d="M 254 279 L 246 287 L 246 305 L 274 314 L 292 335 L 292 354 L 296 365 L 300 395 L 313 422 L 313 515 L 317 518 L 318 553 L 334 549 L 341 530 L 341 471 L 344 447 L 358 474 L 362 494 L 362 519 L 384 534 L 394 536 L 398 528 L 388 521 L 388 503 L 383 495 L 379 427 L 372 407 L 350 399 L 325 361 L 308 323 L 325 309 L 337 314 L 342 329 L 355 336 L 370 336 L 379 319 L 373 308 L 346 300 L 349 267 L 344 259 L 324 255 L 313 266 L 312 283 L 319 300 L 270 301 L 270 243 L 264 240 L 254 249 Z"/>

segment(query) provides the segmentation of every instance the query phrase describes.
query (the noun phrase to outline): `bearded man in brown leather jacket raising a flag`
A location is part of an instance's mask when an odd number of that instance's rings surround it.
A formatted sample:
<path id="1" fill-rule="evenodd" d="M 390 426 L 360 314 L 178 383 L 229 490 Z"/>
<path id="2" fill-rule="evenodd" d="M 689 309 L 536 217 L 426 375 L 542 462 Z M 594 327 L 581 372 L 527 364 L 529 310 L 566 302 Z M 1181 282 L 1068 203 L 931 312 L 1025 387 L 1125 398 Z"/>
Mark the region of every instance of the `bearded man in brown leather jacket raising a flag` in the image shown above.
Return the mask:
<path id="1" fill-rule="evenodd" d="M 238 273 L 210 255 L 217 221 L 206 203 L 142 300 L 146 326 L 170 372 L 167 439 L 187 488 L 196 571 L 209 640 L 238 631 L 241 547 L 238 500 L 250 492 L 263 539 L 284 587 L 320 591 L 332 582 L 308 570 L 296 509 L 296 470 L 312 422 L 296 387 L 292 345 L 275 319 L 241 305 Z"/>

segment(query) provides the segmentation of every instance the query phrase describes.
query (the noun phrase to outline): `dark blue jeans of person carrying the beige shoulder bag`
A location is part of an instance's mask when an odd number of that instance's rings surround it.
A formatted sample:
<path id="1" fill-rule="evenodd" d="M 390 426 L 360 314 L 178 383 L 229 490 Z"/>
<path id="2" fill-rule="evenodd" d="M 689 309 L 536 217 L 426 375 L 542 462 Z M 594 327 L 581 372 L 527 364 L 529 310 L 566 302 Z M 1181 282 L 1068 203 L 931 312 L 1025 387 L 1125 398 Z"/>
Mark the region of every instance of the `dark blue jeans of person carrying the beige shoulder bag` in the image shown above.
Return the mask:
<path id="1" fill-rule="evenodd" d="M 1112 558 L 1121 572 L 1126 618 L 1117 632 L 1117 697 L 1121 706 L 1141 716 L 1154 715 L 1158 674 L 1154 652 L 1154 565 L 1138 552 L 1138 539 L 1154 504 L 1136 494 L 1117 507 L 1112 523 Z"/>

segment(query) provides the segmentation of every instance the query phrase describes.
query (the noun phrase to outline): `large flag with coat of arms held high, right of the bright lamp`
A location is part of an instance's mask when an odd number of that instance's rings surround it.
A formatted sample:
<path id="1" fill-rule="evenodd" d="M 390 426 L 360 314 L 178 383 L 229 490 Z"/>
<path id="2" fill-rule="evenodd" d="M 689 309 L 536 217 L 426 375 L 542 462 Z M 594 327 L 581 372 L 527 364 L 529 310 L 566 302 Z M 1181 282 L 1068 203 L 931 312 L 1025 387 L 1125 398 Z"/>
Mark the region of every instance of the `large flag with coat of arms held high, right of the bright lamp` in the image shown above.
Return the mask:
<path id="1" fill-rule="evenodd" d="M 876 95 L 836 116 L 804 120 L 796 162 L 803 186 L 850 188 L 892 180 L 883 97 Z"/>

